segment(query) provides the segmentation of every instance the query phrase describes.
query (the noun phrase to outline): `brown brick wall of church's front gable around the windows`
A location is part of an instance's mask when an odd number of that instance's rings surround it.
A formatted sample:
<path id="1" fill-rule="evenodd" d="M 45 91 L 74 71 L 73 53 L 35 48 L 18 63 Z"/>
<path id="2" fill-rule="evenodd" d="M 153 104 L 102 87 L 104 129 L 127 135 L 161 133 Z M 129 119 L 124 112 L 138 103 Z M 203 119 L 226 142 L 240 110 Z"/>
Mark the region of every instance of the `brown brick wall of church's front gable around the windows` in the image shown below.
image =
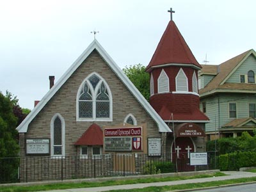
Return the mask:
<path id="1" fill-rule="evenodd" d="M 122 124 L 125 116 L 132 113 L 138 125 L 147 124 L 148 136 L 161 136 L 156 123 L 141 107 L 140 103 L 134 99 L 133 95 L 113 73 L 107 63 L 102 60 L 97 51 L 93 51 L 29 124 L 25 137 L 51 138 L 52 116 L 60 113 L 65 120 L 65 155 L 76 156 L 77 148 L 74 143 L 93 124 L 93 122 L 76 121 L 76 96 L 79 86 L 92 72 L 97 72 L 106 80 L 113 97 L 113 121 L 95 123 L 100 127 Z M 25 145 L 20 145 L 20 147 L 20 154 L 24 155 Z"/>

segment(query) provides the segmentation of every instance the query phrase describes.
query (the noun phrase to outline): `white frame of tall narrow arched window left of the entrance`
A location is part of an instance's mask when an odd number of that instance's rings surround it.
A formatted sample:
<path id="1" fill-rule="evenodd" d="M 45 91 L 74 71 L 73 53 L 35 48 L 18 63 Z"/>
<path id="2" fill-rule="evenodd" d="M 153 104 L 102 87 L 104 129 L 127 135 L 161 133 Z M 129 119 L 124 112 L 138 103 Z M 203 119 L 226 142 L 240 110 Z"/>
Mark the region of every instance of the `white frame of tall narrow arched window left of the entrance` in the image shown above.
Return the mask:
<path id="1" fill-rule="evenodd" d="M 57 117 L 61 120 L 61 155 L 54 155 L 54 121 Z M 60 113 L 56 113 L 51 119 L 51 156 L 65 157 L 65 120 Z"/>

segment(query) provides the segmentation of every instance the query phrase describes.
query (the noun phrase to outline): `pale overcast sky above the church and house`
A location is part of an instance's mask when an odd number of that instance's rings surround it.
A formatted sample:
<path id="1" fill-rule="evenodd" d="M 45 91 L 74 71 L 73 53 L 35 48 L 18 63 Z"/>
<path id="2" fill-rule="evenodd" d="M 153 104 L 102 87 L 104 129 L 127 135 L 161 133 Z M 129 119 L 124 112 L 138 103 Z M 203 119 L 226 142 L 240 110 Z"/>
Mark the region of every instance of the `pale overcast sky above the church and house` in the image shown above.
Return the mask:
<path id="1" fill-rule="evenodd" d="M 33 109 L 96 39 L 120 67 L 147 66 L 170 20 L 196 60 L 256 50 L 255 0 L 0 0 L 0 92 Z"/>

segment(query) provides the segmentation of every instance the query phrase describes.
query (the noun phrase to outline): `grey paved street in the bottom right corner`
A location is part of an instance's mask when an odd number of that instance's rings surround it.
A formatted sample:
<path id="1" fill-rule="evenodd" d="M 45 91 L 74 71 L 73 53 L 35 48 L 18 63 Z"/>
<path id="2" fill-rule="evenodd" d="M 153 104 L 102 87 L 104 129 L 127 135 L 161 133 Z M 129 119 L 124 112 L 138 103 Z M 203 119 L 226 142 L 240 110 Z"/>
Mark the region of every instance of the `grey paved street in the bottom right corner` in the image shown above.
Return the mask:
<path id="1" fill-rule="evenodd" d="M 254 191 L 256 191 L 255 183 L 230 186 L 230 187 L 224 187 L 224 188 L 196 190 L 193 192 L 254 192 Z"/>

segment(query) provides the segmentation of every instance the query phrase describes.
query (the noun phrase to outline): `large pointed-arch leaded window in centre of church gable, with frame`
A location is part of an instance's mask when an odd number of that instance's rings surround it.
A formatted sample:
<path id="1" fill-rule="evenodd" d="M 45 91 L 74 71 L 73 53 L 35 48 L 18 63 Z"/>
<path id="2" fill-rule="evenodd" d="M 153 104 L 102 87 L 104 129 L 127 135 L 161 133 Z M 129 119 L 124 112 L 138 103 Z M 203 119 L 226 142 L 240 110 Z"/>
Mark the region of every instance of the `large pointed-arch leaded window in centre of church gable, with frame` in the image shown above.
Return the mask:
<path id="1" fill-rule="evenodd" d="M 84 79 L 77 92 L 77 120 L 112 120 L 112 96 L 97 73 Z"/>

